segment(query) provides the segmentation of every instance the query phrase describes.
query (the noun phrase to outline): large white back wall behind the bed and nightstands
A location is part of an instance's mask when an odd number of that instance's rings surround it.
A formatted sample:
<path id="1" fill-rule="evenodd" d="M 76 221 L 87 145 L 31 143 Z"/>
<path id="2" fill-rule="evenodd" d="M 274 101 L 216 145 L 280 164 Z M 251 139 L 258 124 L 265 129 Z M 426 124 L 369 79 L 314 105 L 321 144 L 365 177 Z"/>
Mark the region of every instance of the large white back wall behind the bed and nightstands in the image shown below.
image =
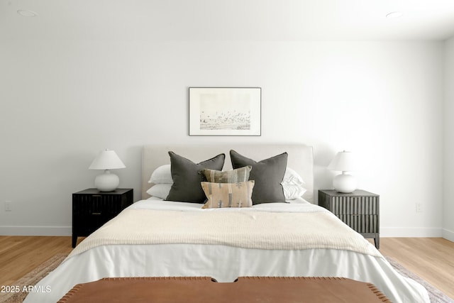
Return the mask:
<path id="1" fill-rule="evenodd" d="M 306 143 L 316 189 L 362 155 L 383 236 L 441 236 L 441 42 L 2 41 L 0 234 L 70 234 L 104 148 L 140 192 L 148 143 Z M 261 137 L 189 137 L 187 87 L 262 87 Z M 3 211 L 5 200 L 12 211 Z M 415 203 L 423 212 L 416 213 Z"/>

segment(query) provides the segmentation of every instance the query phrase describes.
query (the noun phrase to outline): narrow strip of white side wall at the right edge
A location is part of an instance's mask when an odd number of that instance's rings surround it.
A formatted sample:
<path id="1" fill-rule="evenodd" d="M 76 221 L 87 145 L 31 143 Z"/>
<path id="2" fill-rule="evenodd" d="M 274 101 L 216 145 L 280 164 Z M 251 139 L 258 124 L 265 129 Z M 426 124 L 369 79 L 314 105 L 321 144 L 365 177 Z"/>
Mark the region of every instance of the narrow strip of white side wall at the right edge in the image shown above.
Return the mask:
<path id="1" fill-rule="evenodd" d="M 454 241 L 454 37 L 445 42 L 443 238 Z"/>

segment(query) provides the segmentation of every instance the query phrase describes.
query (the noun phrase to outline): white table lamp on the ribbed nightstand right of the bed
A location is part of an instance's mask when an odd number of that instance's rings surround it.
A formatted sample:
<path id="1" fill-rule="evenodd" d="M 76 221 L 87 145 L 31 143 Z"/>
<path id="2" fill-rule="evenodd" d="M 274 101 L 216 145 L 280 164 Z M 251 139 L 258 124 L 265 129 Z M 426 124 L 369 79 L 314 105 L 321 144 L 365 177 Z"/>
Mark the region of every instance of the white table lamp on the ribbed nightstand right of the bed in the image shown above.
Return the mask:
<path id="1" fill-rule="evenodd" d="M 328 165 L 328 170 L 338 170 L 342 173 L 336 175 L 333 179 L 333 186 L 336 192 L 354 192 L 356 189 L 356 178 L 353 175 L 348 175 L 345 172 L 358 170 L 358 163 L 355 160 L 355 155 L 348 151 L 341 151 L 331 160 Z"/>

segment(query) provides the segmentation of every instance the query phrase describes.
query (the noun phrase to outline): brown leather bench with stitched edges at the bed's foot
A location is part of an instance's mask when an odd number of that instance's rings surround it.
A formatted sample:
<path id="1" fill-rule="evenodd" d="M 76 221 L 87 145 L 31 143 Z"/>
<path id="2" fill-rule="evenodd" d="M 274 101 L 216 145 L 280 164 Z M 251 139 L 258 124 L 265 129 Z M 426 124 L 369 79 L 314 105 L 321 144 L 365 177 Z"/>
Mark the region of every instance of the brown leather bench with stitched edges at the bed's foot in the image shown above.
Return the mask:
<path id="1" fill-rule="evenodd" d="M 117 277 L 78 284 L 72 302 L 391 302 L 373 284 L 342 277 Z"/>

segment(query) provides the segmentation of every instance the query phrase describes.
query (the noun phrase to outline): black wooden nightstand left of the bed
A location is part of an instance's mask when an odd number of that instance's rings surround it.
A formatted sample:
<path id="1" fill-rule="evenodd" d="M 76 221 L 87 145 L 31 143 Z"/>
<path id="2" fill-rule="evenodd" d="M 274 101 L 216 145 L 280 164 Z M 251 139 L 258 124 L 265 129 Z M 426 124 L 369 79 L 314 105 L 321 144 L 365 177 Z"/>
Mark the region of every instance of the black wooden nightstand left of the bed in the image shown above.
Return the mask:
<path id="1" fill-rule="evenodd" d="M 112 192 L 89 188 L 72 194 L 72 247 L 76 247 L 77 237 L 88 236 L 131 204 L 131 188 Z"/>

